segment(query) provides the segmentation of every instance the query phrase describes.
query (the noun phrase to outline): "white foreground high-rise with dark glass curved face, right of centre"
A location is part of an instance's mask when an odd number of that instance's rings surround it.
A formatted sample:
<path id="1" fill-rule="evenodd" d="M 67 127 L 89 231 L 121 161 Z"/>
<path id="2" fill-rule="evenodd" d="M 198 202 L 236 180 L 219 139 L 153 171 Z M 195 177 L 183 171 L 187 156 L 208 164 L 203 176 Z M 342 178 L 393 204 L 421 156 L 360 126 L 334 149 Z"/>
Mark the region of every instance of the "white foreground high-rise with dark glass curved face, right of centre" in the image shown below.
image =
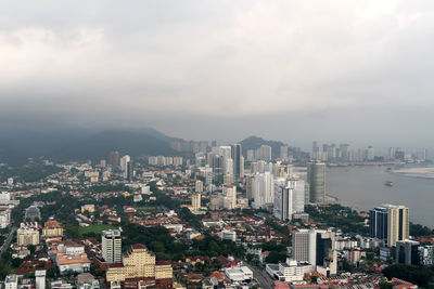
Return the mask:
<path id="1" fill-rule="evenodd" d="M 328 275 L 337 272 L 335 235 L 324 229 L 298 229 L 292 237 L 293 259 L 308 262 L 316 271 Z"/>

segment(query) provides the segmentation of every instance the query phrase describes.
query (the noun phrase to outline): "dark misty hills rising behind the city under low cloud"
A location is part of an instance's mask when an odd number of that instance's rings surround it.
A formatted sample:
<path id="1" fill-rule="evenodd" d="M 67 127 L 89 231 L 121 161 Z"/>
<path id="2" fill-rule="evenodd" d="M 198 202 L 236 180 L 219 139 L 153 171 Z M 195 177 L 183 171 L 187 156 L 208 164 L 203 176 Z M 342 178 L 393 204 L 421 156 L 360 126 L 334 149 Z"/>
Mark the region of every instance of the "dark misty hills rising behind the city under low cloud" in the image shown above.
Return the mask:
<path id="1" fill-rule="evenodd" d="M 87 131 L 64 129 L 56 131 L 0 131 L 0 162 L 24 163 L 29 157 L 50 157 L 56 160 L 99 160 L 111 150 L 131 157 L 140 155 L 182 155 L 170 147 L 173 137 L 152 128 L 140 130 Z M 250 136 L 240 142 L 245 153 L 260 145 L 270 145 L 280 152 L 281 142 Z"/>

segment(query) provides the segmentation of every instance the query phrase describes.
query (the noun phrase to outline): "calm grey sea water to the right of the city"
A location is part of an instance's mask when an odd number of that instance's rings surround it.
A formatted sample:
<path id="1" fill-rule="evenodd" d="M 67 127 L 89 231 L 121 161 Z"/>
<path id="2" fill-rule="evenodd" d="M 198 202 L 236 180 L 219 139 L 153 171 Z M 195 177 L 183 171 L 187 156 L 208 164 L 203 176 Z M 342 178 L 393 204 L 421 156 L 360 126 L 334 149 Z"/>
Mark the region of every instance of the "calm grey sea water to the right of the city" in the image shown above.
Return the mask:
<path id="1" fill-rule="evenodd" d="M 394 185 L 385 186 L 386 181 Z M 434 180 L 390 173 L 385 166 L 328 168 L 327 194 L 357 210 L 404 205 L 410 209 L 411 222 L 434 227 Z"/>

